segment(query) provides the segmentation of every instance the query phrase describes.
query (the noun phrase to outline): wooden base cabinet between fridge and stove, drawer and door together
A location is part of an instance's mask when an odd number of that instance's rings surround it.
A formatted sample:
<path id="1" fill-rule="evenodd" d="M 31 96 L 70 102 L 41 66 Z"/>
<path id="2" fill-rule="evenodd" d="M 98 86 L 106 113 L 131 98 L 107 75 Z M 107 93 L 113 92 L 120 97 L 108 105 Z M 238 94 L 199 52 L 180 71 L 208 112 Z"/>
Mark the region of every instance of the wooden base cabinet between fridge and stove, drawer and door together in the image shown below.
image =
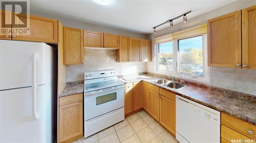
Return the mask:
<path id="1" fill-rule="evenodd" d="M 59 106 L 59 142 L 72 141 L 83 135 L 83 105 L 80 97 L 82 94 L 59 99 L 60 103 L 65 103 Z"/>

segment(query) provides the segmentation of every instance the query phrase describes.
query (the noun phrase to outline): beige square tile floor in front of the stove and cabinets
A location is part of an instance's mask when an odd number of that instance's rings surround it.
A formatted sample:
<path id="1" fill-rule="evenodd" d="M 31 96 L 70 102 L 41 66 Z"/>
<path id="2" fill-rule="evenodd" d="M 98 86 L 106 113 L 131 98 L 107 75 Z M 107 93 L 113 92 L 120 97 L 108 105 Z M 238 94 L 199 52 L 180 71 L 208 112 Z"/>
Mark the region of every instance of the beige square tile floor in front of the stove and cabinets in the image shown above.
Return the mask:
<path id="1" fill-rule="evenodd" d="M 148 115 L 147 112 L 141 110 L 129 117 L 126 117 L 122 122 L 95 133 L 85 139 L 83 137 L 79 138 L 72 143 L 82 142 L 177 143 L 178 141 L 172 134 L 168 133 L 158 122 Z"/>

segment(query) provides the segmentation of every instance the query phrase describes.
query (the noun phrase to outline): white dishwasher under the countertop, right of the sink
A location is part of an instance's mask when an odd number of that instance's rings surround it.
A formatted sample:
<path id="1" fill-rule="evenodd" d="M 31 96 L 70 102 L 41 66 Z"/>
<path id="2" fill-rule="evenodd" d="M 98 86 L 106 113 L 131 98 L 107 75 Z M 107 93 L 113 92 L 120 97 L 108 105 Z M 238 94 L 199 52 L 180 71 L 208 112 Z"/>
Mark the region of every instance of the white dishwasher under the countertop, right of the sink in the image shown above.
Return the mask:
<path id="1" fill-rule="evenodd" d="M 220 111 L 176 95 L 176 139 L 220 142 Z"/>

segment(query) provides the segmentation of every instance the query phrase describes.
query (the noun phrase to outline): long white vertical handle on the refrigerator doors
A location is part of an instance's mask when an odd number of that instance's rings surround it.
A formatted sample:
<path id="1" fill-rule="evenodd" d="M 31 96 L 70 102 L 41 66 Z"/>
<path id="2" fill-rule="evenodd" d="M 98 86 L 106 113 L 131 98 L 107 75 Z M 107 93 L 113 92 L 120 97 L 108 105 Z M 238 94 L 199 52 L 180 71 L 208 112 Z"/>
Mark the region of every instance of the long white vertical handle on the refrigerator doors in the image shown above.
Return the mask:
<path id="1" fill-rule="evenodd" d="M 33 60 L 32 60 L 32 114 L 34 120 L 38 119 L 37 112 L 36 112 L 36 59 L 37 59 L 37 52 L 33 53 Z"/>

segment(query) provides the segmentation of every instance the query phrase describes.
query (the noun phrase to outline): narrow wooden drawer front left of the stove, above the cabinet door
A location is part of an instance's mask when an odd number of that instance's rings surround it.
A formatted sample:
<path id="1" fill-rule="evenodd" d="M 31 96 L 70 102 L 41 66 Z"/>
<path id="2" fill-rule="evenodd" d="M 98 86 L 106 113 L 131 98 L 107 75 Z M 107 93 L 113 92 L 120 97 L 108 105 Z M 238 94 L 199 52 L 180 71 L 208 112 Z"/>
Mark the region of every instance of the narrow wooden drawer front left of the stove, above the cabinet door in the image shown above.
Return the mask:
<path id="1" fill-rule="evenodd" d="M 82 101 L 82 93 L 59 98 L 59 106 Z"/>

